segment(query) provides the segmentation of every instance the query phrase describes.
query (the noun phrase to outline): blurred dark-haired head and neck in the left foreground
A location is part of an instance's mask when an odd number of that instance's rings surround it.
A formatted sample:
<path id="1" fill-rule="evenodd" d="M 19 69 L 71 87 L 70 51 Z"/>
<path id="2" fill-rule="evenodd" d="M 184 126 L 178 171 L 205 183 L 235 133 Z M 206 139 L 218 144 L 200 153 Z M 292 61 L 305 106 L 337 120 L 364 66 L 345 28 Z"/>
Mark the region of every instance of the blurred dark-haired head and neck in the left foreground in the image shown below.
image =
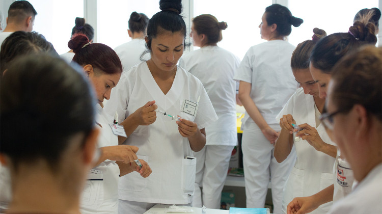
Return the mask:
<path id="1" fill-rule="evenodd" d="M 0 161 L 13 195 L 6 213 L 79 213 L 99 132 L 90 84 L 58 57 L 29 55 L 0 85 Z"/>

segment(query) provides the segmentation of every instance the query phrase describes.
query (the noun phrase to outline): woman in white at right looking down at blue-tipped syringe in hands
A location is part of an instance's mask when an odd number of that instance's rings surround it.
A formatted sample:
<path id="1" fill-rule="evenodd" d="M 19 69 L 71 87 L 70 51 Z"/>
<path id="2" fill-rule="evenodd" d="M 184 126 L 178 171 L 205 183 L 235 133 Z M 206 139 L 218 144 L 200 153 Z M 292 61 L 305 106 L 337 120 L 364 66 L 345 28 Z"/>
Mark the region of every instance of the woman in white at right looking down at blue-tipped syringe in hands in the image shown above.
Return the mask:
<path id="1" fill-rule="evenodd" d="M 309 71 L 309 56 L 317 40 L 326 36 L 323 30 L 313 30 L 313 40 L 306 40 L 293 51 L 290 66 L 301 88 L 290 97 L 277 116 L 281 132 L 275 145 L 275 158 L 282 163 L 291 150 L 297 154 L 296 163 L 284 187 L 283 213 L 294 197 L 310 196 L 333 184 L 333 164 L 337 147 L 331 141 L 319 117 L 325 98 L 319 97 L 318 84 Z M 304 128 L 302 138 L 293 137 L 297 131 L 292 124 Z M 296 133 L 296 134 L 297 134 Z M 294 146 L 294 147 L 293 147 Z M 312 213 L 326 213 L 332 203 L 321 205 Z"/>

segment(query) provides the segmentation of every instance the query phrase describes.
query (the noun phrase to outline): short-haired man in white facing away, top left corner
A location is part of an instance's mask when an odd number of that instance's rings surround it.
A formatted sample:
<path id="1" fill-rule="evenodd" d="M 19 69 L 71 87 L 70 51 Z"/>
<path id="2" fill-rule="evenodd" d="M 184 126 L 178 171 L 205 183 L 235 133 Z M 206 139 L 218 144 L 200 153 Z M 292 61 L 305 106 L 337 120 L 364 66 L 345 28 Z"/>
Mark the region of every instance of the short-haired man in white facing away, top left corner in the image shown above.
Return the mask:
<path id="1" fill-rule="evenodd" d="M 15 1 L 8 9 L 7 26 L 0 33 L 0 45 L 15 31 L 32 32 L 36 10 L 28 1 Z"/>

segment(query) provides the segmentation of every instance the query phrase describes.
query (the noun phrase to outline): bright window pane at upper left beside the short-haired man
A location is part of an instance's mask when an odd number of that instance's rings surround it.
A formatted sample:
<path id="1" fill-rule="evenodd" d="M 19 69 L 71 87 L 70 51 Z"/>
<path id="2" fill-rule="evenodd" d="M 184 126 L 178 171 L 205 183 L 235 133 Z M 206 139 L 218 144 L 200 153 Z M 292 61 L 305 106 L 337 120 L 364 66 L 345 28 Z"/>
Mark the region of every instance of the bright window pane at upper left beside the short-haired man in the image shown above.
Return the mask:
<path id="1" fill-rule="evenodd" d="M 29 0 L 37 11 L 33 31 L 42 34 L 59 54 L 69 50 L 74 20 L 84 17 L 84 2 L 78 0 L 41 1 Z"/>

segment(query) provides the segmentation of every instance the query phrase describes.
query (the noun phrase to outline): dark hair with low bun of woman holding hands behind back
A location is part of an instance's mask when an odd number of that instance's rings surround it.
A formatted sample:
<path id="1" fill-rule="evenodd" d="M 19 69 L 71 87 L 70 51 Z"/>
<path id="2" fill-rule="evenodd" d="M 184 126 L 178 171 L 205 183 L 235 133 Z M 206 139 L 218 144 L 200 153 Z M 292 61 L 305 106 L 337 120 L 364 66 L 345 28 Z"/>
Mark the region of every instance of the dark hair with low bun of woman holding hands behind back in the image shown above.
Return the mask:
<path id="1" fill-rule="evenodd" d="M 266 22 L 268 25 L 276 24 L 278 36 L 289 36 L 292 32 L 292 25 L 298 27 L 304 20 L 292 16 L 287 7 L 274 4 L 265 8 Z"/>

